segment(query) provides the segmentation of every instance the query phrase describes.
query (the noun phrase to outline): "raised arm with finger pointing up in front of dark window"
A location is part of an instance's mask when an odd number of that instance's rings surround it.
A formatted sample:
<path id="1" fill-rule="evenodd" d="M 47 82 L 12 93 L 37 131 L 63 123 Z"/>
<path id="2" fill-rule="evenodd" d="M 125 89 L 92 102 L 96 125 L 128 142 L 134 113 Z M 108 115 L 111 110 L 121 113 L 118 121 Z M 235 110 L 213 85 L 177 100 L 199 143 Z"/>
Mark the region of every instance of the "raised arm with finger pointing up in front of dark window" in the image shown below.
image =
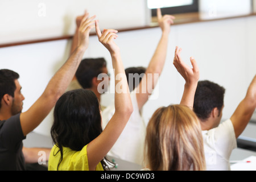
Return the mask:
<path id="1" fill-rule="evenodd" d="M 160 9 L 157 10 L 157 16 L 159 27 L 162 30 L 162 36 L 160 38 L 158 46 L 156 47 L 154 55 L 152 56 L 152 59 L 148 64 L 145 75 L 142 78 L 141 83 L 139 84 L 139 89 L 137 89 L 137 102 L 139 109 L 141 109 L 143 105 L 147 102 L 148 97 L 150 97 L 151 93 L 153 92 L 155 85 L 158 82 L 158 78 L 162 73 L 164 63 L 166 61 L 171 24 L 174 23 L 175 19 L 175 17 L 172 15 L 162 16 Z"/>

